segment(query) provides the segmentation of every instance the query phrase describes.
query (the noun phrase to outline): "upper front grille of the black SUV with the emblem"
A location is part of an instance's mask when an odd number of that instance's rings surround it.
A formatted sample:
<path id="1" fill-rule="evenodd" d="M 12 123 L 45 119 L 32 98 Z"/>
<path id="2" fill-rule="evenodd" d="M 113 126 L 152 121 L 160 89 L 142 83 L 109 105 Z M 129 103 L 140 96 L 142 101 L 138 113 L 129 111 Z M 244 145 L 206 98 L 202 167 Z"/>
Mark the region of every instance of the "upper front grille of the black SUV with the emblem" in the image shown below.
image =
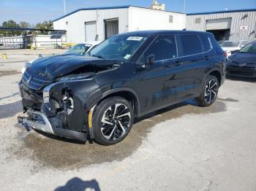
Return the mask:
<path id="1" fill-rule="evenodd" d="M 29 88 L 39 90 L 39 88 L 48 85 L 51 80 L 46 77 L 41 77 L 38 74 L 34 74 L 29 69 L 26 69 L 22 77 L 22 82 Z"/>

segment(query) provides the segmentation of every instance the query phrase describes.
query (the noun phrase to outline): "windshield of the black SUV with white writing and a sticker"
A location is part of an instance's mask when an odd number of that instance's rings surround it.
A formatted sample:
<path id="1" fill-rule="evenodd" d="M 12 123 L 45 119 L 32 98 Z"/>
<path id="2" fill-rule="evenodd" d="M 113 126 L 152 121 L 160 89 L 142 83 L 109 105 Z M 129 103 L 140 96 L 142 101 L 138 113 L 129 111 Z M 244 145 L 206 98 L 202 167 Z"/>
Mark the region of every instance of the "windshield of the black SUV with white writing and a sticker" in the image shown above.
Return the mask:
<path id="1" fill-rule="evenodd" d="M 89 56 L 103 59 L 128 60 L 145 42 L 147 36 L 112 36 L 89 52 Z"/>

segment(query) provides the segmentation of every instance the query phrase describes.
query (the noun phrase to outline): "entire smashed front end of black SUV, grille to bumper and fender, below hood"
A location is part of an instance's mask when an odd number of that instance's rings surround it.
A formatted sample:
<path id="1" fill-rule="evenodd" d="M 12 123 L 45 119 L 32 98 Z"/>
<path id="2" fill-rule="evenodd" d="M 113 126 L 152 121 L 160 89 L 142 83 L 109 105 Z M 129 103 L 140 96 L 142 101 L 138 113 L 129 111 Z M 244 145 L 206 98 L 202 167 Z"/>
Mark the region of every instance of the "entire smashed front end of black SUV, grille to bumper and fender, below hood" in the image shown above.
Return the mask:
<path id="1" fill-rule="evenodd" d="M 33 128 L 68 139 L 93 138 L 89 130 L 89 111 L 102 96 L 93 77 L 111 67 L 100 66 L 98 71 L 94 67 L 93 72 L 87 71 L 90 66 L 84 67 L 54 79 L 26 69 L 19 87 L 27 117 L 18 117 L 18 122 L 27 130 Z"/>

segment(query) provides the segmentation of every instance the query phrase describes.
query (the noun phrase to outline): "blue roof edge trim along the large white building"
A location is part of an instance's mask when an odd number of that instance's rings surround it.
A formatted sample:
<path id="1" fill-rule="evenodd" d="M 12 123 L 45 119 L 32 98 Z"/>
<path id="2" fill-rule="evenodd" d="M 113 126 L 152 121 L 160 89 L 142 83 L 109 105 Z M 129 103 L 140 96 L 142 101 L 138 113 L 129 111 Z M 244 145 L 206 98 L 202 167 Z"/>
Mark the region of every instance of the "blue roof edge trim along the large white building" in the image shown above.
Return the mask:
<path id="1" fill-rule="evenodd" d="M 67 17 L 69 15 L 72 15 L 75 12 L 79 12 L 79 11 L 86 11 L 86 10 L 100 10 L 100 9 L 128 9 L 129 7 L 138 7 L 138 6 L 132 6 L 132 5 L 123 5 L 123 6 L 114 6 L 114 7 L 89 7 L 89 8 L 80 8 L 80 9 L 76 9 L 75 11 L 69 12 L 67 15 L 63 15 L 59 18 L 56 18 L 54 21 L 56 20 L 60 20 L 61 18 Z M 141 9 L 151 9 L 151 8 L 147 8 L 147 7 L 138 7 Z M 161 11 L 161 12 L 170 12 L 170 11 L 164 11 L 164 10 L 157 10 L 157 9 L 153 9 L 155 11 Z M 184 14 L 182 12 L 176 12 L 176 13 L 180 13 L 180 14 Z"/>

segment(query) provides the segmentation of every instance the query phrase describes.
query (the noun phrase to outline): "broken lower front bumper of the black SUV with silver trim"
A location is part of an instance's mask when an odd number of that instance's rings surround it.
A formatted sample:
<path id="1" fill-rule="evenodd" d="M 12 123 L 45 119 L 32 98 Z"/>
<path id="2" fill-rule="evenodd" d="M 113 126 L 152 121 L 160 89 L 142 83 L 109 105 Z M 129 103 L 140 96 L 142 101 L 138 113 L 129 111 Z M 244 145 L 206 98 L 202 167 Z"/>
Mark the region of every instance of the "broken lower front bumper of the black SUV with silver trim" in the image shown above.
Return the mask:
<path id="1" fill-rule="evenodd" d="M 75 130 L 68 130 L 64 128 L 55 128 L 51 124 L 48 117 L 46 117 L 46 115 L 42 112 L 37 112 L 32 109 L 29 109 L 27 112 L 29 114 L 29 117 L 18 117 L 18 122 L 26 129 L 33 128 L 56 136 L 63 136 L 67 139 L 86 141 L 86 133 L 81 133 Z"/>

